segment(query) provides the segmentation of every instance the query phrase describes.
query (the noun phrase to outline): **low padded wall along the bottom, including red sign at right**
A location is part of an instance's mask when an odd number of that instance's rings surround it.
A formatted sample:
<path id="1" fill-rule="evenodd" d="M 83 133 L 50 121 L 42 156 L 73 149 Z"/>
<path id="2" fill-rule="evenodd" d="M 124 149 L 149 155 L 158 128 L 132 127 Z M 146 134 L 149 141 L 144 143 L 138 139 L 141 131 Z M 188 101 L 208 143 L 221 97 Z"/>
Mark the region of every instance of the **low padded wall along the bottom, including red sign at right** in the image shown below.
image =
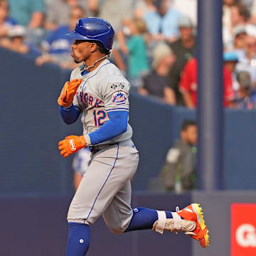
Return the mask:
<path id="1" fill-rule="evenodd" d="M 70 196 L 20 194 L 0 196 L 0 255 L 65 255 Z M 88 256 L 255 256 L 256 191 L 225 191 L 174 195 L 134 193 L 132 206 L 159 210 L 200 202 L 210 230 L 210 246 L 203 249 L 186 235 L 151 230 L 114 235 L 102 218 L 92 225 Z M 232 252 L 232 254 L 231 254 Z"/>

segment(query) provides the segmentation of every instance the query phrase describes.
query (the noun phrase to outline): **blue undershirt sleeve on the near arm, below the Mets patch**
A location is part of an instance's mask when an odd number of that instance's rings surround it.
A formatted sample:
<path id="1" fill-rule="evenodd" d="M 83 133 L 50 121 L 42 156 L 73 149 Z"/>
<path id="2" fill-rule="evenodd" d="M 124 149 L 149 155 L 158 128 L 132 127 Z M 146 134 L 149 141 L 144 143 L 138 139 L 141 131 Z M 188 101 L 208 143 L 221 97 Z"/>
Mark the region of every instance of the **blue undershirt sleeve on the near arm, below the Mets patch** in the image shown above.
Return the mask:
<path id="1" fill-rule="evenodd" d="M 126 132 L 128 124 L 127 111 L 112 111 L 108 112 L 107 116 L 110 118 L 97 131 L 89 134 L 92 145 L 117 137 L 119 134 Z"/>

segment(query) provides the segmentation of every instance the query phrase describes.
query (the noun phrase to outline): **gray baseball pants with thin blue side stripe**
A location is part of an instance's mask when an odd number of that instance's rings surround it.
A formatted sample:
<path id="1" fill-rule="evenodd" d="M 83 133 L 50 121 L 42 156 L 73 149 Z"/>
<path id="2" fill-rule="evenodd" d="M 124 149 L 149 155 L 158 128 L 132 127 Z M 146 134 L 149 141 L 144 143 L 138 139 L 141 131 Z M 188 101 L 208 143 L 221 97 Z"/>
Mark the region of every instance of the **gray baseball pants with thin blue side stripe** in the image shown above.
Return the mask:
<path id="1" fill-rule="evenodd" d="M 123 233 L 132 220 L 131 178 L 139 153 L 131 139 L 92 154 L 68 210 L 68 222 L 92 225 L 103 216 L 113 233 Z"/>

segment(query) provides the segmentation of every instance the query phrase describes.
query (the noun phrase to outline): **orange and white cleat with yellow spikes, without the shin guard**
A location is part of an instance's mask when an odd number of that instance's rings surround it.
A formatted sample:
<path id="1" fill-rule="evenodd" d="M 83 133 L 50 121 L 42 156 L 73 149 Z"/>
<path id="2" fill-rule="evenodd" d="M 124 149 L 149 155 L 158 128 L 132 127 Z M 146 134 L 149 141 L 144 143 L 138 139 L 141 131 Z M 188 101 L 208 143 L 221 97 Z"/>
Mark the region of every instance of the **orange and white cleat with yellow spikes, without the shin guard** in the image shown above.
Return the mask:
<path id="1" fill-rule="evenodd" d="M 192 232 L 185 233 L 191 238 L 198 240 L 202 247 L 208 247 L 210 244 L 209 231 L 206 228 L 206 223 L 203 219 L 203 211 L 198 203 L 191 203 L 190 206 L 186 206 L 182 210 L 176 210 L 176 213 L 184 220 L 191 220 L 196 223 L 196 228 Z"/>

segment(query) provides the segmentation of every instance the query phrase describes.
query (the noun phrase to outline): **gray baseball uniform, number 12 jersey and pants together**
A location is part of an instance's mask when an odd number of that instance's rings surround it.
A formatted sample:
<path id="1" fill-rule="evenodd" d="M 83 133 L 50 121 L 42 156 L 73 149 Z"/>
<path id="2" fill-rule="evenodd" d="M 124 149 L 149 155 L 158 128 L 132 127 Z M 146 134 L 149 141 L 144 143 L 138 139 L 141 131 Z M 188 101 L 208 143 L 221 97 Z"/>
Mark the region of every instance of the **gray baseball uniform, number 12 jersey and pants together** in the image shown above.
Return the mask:
<path id="1" fill-rule="evenodd" d="M 108 112 L 129 112 L 129 82 L 109 60 L 90 73 L 81 75 L 83 66 L 73 70 L 70 80 L 82 78 L 73 104 L 82 112 L 83 134 L 90 145 L 89 133 L 109 118 Z M 114 233 L 123 233 L 132 219 L 131 183 L 139 163 L 132 142 L 132 127 L 107 142 L 104 149 L 92 153 L 90 165 L 82 177 L 68 210 L 68 221 L 91 225 L 103 216 Z"/>

